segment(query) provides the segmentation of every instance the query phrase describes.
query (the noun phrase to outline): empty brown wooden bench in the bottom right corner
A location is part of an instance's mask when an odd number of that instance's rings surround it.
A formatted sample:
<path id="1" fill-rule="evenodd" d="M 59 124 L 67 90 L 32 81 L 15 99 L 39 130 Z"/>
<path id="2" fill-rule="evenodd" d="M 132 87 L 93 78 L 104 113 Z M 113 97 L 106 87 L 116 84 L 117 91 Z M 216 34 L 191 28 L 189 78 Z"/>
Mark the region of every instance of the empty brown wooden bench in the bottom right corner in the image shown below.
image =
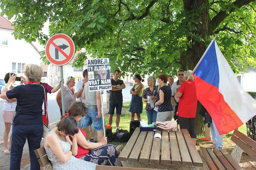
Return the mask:
<path id="1" fill-rule="evenodd" d="M 231 140 L 256 160 L 256 142 L 235 129 Z M 225 149 L 208 149 L 200 147 L 203 158 L 210 170 L 227 169 L 242 170 L 243 168 L 228 154 Z"/>

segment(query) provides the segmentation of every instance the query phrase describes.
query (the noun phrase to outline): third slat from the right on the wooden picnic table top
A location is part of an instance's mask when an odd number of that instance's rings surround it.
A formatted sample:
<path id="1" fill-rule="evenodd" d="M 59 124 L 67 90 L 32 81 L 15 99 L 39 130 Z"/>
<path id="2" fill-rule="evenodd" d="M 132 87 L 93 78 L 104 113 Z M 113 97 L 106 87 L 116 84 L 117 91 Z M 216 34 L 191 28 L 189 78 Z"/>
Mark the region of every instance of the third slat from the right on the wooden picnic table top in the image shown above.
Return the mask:
<path id="1" fill-rule="evenodd" d="M 181 165 L 180 150 L 175 131 L 169 131 L 172 166 Z"/>

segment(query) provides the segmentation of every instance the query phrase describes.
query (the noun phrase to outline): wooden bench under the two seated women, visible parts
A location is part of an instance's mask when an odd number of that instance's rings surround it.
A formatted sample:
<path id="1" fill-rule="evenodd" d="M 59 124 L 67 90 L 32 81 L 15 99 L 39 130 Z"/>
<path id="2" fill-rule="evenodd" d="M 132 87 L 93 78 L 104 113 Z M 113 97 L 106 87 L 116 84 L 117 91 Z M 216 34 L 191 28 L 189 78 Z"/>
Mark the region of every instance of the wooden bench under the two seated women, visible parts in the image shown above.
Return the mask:
<path id="1" fill-rule="evenodd" d="M 82 130 L 86 132 L 86 140 L 88 140 L 94 136 L 94 131 L 92 130 L 91 126 L 87 126 L 86 128 L 84 128 Z M 123 148 L 123 145 L 116 146 L 117 153 L 119 153 L 122 148 Z M 39 149 L 36 149 L 34 152 L 36 154 L 36 158 L 38 159 L 38 162 L 41 167 L 43 167 L 49 163 L 52 165 L 51 161 L 48 159 L 48 157 L 46 155 L 44 146 L 40 147 Z"/>

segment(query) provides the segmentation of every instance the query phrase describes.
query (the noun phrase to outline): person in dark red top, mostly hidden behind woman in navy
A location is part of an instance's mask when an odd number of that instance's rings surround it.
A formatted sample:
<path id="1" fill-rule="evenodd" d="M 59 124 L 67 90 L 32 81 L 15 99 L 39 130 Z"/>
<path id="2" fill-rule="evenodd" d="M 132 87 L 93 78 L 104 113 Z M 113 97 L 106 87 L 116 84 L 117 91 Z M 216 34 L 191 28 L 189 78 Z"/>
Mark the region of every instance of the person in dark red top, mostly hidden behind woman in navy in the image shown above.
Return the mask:
<path id="1" fill-rule="evenodd" d="M 27 84 L 27 79 L 23 76 L 20 76 L 20 77 L 22 78 L 21 83 Z M 49 125 L 49 119 L 48 119 L 48 114 L 47 114 L 47 110 L 46 110 L 47 93 L 54 93 L 54 92 L 58 91 L 60 89 L 60 82 L 59 82 L 58 86 L 56 86 L 55 88 L 52 88 L 47 83 L 43 83 L 40 81 L 38 82 L 38 84 L 42 84 L 45 87 L 45 97 L 44 97 L 44 103 L 42 105 L 42 118 L 43 118 L 43 124 L 45 124 L 47 126 Z M 64 83 L 64 81 L 63 81 L 63 83 Z"/>

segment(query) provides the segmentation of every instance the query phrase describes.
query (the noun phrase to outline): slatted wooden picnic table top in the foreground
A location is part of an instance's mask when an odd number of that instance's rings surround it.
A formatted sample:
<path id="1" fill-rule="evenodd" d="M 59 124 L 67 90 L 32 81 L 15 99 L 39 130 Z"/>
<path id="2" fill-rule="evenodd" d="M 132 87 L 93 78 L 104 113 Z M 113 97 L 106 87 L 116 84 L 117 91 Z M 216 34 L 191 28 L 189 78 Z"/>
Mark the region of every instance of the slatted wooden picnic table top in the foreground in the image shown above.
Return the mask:
<path id="1" fill-rule="evenodd" d="M 154 134 L 162 135 L 154 138 Z M 202 159 L 187 129 L 140 131 L 136 128 L 118 160 L 128 162 L 203 167 Z"/>

